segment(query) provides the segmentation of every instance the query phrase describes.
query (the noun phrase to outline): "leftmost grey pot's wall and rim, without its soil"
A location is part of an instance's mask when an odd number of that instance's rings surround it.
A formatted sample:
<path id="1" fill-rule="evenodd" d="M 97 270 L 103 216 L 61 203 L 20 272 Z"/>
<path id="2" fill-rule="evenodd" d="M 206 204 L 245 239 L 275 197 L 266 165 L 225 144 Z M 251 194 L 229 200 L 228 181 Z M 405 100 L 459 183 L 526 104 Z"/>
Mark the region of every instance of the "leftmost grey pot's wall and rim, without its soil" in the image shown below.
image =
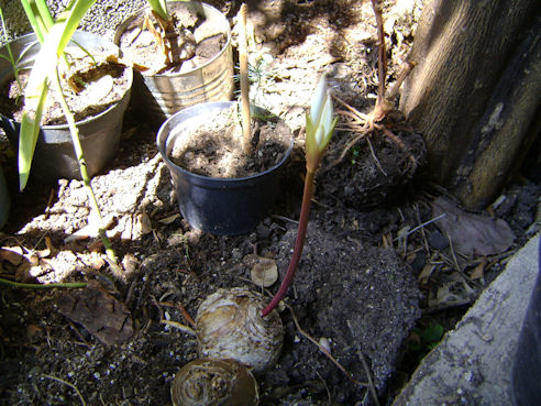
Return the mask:
<path id="1" fill-rule="evenodd" d="M 92 50 L 103 48 L 119 54 L 118 47 L 99 35 L 77 31 L 74 41 L 90 53 Z M 20 36 L 10 43 L 15 59 L 25 50 L 20 66 L 31 68 L 40 51 L 40 44 L 34 34 Z M 7 48 L 0 53 L 7 55 Z M 117 153 L 122 133 L 122 119 L 130 101 L 133 72 L 126 68 L 129 89 L 124 97 L 106 111 L 86 120 L 77 122 L 87 169 L 90 176 L 100 172 Z M 0 86 L 13 78 L 11 65 L 0 58 Z M 1 116 L 0 125 L 14 149 L 19 146 L 20 123 Z M 41 182 L 55 182 L 58 178 L 80 179 L 79 163 L 75 156 L 74 144 L 67 124 L 43 125 L 32 161 L 31 176 Z"/>

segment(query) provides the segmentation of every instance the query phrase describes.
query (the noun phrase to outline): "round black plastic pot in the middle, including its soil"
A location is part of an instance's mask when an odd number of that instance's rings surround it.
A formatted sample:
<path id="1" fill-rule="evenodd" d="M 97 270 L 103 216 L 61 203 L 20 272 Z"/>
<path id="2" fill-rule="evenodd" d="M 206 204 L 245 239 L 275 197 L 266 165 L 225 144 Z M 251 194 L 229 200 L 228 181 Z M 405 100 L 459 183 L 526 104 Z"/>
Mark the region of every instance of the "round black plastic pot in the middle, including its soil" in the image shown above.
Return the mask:
<path id="1" fill-rule="evenodd" d="M 233 101 L 196 105 L 172 116 L 157 133 L 180 212 L 192 227 L 213 234 L 250 232 L 268 215 L 292 150 L 289 128 L 258 112 L 256 146 L 245 155 L 239 117 Z"/>

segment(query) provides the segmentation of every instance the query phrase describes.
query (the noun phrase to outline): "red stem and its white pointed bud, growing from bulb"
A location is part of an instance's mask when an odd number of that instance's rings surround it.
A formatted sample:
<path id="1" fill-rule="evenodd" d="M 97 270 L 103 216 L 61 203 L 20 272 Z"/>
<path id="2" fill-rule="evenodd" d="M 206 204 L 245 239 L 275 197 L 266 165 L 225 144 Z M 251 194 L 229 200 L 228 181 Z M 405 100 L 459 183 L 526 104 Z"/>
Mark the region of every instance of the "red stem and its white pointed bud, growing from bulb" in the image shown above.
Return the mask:
<path id="1" fill-rule="evenodd" d="M 299 264 L 300 254 L 305 245 L 306 229 L 308 226 L 308 213 L 310 212 L 310 199 L 312 198 L 313 178 L 323 154 L 331 141 L 334 125 L 338 118 L 334 118 L 331 95 L 327 86 L 325 76 L 322 75 L 312 98 L 310 111 L 306 116 L 306 177 L 305 191 L 302 193 L 302 205 L 300 208 L 299 229 L 295 241 L 295 249 L 291 261 L 281 282 L 278 292 L 273 300 L 263 309 L 262 316 L 267 316 L 278 306 L 278 303 L 286 295 L 287 288 L 291 284 L 295 271 Z"/>

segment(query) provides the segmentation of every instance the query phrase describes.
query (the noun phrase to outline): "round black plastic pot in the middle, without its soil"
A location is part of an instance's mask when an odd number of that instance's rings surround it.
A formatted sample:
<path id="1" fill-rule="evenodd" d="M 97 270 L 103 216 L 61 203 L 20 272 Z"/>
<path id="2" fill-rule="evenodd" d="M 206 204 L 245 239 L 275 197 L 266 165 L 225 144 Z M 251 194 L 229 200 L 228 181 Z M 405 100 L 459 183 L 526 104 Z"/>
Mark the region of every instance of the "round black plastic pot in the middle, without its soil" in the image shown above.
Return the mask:
<path id="1" fill-rule="evenodd" d="M 196 229 L 218 235 L 243 234 L 255 229 L 273 208 L 279 188 L 279 171 L 292 150 L 274 167 L 242 178 L 212 178 L 192 174 L 169 158 L 176 138 L 185 129 L 198 125 L 233 101 L 188 107 L 172 116 L 159 129 L 156 143 L 170 171 L 178 206 L 184 218 Z"/>

